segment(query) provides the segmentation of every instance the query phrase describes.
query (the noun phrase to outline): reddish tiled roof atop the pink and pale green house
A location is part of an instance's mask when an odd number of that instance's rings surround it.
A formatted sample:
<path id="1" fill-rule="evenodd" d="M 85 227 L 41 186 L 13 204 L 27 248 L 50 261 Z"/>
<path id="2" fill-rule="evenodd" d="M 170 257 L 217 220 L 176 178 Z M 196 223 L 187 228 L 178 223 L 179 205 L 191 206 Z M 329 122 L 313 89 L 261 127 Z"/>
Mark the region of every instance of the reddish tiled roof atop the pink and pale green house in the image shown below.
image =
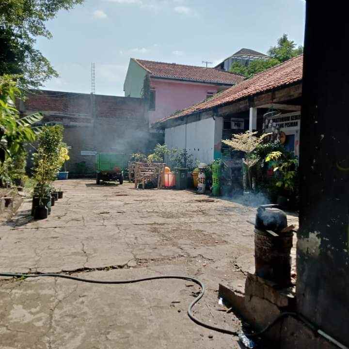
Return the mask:
<path id="1" fill-rule="evenodd" d="M 133 60 L 140 64 L 145 70 L 147 70 L 151 74 L 151 76 L 157 78 L 220 83 L 225 85 L 235 85 L 239 81 L 243 80 L 243 77 L 240 75 L 215 68 L 205 68 L 176 63 L 144 61 L 135 58 L 133 58 Z"/>

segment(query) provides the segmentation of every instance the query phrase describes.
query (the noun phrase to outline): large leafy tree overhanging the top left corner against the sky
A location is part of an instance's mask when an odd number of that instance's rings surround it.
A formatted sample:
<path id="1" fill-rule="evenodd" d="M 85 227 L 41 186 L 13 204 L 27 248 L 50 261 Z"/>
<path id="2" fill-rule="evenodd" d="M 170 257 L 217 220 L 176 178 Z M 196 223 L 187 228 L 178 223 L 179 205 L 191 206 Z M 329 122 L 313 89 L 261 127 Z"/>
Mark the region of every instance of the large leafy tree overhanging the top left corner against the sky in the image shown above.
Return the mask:
<path id="1" fill-rule="evenodd" d="M 57 77 L 48 60 L 34 48 L 36 38 L 51 38 L 46 22 L 59 10 L 69 10 L 83 0 L 1 0 L 0 75 L 17 74 L 20 84 L 42 86 Z"/>

